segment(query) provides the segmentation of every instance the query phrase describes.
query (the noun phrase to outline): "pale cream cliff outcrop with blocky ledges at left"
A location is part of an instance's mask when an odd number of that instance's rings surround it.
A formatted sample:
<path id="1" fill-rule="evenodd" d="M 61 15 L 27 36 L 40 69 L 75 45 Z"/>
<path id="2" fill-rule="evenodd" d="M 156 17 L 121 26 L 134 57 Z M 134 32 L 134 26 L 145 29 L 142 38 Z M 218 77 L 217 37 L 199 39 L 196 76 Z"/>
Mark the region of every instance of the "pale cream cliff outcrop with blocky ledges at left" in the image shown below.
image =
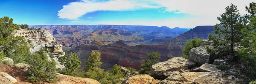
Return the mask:
<path id="1" fill-rule="evenodd" d="M 58 62 L 57 57 L 65 55 L 62 50 L 62 45 L 55 41 L 55 38 L 49 30 L 15 30 L 15 36 L 24 36 L 26 41 L 32 46 L 31 52 L 39 51 L 41 48 L 46 48 L 49 52 L 47 54 L 48 60 L 53 59 L 57 65 L 56 68 L 64 68 L 63 65 Z M 50 57 L 51 56 L 51 57 Z"/>

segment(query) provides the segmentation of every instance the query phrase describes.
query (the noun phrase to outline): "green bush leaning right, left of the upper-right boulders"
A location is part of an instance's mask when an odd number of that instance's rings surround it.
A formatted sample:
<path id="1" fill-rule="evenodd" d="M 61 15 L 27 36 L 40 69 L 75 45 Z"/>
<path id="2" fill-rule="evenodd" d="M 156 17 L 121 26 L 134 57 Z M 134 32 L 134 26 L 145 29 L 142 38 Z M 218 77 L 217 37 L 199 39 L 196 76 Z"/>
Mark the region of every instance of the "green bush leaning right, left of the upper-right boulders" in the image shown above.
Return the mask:
<path id="1" fill-rule="evenodd" d="M 203 40 L 203 38 L 197 38 L 197 37 L 187 40 L 185 42 L 185 47 L 182 50 L 183 55 L 181 57 L 183 57 L 185 59 L 189 59 L 189 51 L 192 48 L 199 47 L 202 43 L 202 40 Z"/>

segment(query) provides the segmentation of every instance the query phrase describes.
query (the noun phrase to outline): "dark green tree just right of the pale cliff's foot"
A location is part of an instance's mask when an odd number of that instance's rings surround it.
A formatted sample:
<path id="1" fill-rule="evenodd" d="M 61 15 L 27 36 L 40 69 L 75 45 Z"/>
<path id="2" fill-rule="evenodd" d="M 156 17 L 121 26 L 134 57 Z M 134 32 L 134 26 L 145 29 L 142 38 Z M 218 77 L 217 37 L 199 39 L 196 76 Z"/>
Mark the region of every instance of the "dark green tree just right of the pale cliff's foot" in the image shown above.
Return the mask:
<path id="1" fill-rule="evenodd" d="M 67 75 L 70 75 L 77 70 L 77 68 L 81 67 L 81 62 L 78 60 L 78 56 L 76 56 L 75 52 L 71 52 L 70 54 L 66 53 L 63 57 L 60 57 L 58 61 L 66 67 L 63 73 Z"/>

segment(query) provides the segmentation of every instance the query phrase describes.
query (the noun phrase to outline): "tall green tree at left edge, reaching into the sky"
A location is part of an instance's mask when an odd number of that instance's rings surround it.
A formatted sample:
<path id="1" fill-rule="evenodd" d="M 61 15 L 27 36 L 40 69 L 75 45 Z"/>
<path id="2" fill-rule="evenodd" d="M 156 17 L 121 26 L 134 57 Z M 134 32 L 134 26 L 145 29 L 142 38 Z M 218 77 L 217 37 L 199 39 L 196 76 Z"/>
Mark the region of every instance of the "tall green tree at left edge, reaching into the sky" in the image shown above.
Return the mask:
<path id="1" fill-rule="evenodd" d="M 14 63 L 25 62 L 30 54 L 29 46 L 23 36 L 14 36 L 19 27 L 12 22 L 8 16 L 0 18 L 0 52 L 4 57 L 12 58 Z"/>

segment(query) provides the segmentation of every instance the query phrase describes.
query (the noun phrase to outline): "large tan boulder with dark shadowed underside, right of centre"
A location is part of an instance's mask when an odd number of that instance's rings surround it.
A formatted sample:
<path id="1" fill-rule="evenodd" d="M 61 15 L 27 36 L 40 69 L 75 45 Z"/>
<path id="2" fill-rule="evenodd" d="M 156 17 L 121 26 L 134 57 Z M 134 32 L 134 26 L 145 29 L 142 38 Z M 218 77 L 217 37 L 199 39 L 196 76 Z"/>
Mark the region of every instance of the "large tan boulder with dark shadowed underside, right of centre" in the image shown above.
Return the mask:
<path id="1" fill-rule="evenodd" d="M 150 68 L 151 76 L 155 79 L 166 79 L 172 71 L 183 72 L 195 66 L 191 62 L 182 57 L 173 57 L 165 62 L 159 62 Z"/>

